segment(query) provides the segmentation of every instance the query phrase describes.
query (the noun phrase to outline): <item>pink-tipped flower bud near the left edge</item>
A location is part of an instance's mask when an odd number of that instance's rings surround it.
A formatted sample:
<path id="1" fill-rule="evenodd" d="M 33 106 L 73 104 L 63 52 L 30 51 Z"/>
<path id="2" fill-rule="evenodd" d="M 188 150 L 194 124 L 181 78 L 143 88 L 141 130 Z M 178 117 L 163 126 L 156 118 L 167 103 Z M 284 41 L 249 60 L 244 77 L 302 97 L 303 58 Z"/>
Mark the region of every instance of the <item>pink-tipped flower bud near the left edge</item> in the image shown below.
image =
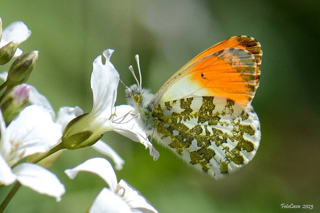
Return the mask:
<path id="1" fill-rule="evenodd" d="M 29 92 L 30 86 L 21 84 L 13 87 L 12 90 L 4 96 L 0 103 L 0 108 L 7 124 L 27 105 Z"/>

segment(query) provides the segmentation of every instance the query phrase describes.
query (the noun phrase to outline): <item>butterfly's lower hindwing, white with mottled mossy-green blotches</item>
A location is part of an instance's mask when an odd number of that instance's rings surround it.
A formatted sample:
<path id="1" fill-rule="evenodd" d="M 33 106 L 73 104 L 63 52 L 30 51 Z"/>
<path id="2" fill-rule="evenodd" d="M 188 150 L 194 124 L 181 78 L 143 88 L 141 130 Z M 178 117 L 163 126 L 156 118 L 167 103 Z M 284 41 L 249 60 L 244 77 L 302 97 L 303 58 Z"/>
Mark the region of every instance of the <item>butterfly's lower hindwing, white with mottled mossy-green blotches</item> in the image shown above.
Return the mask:
<path id="1" fill-rule="evenodd" d="M 220 97 L 191 97 L 158 104 L 155 138 L 215 178 L 247 164 L 260 141 L 258 116 Z"/>

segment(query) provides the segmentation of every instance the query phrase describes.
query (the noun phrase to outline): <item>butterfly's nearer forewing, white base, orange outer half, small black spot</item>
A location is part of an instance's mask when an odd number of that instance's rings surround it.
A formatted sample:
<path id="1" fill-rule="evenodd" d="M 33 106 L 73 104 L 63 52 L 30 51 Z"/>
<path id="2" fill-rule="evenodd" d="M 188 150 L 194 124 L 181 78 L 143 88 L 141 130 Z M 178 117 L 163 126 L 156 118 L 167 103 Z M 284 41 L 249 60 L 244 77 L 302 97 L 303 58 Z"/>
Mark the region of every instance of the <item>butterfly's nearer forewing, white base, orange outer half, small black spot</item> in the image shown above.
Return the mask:
<path id="1" fill-rule="evenodd" d="M 255 57 L 248 50 L 220 50 L 172 76 L 150 103 L 214 96 L 246 108 L 258 88 L 260 72 L 256 73 L 256 68 Z"/>

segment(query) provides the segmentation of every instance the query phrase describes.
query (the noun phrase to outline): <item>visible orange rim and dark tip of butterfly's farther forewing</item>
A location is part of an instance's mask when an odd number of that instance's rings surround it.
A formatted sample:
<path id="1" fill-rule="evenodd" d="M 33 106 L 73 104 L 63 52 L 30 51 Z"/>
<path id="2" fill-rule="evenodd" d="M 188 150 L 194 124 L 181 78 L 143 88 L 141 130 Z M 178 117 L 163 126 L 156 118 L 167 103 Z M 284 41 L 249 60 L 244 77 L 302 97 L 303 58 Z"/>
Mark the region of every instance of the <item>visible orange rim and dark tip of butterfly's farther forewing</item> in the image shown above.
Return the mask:
<path id="1" fill-rule="evenodd" d="M 180 70 L 186 69 L 188 66 L 196 63 L 197 61 L 201 60 L 202 58 L 210 54 L 216 53 L 220 50 L 227 49 L 227 48 L 246 49 L 250 52 L 250 54 L 254 56 L 255 62 L 256 62 L 255 89 L 257 89 L 259 86 L 259 78 L 260 78 L 260 65 L 261 65 L 261 56 L 262 56 L 261 45 L 254 38 L 245 36 L 245 35 L 234 36 L 213 45 L 209 49 L 204 50 L 202 53 L 194 57 L 191 61 L 189 61 L 186 65 L 184 65 Z"/>

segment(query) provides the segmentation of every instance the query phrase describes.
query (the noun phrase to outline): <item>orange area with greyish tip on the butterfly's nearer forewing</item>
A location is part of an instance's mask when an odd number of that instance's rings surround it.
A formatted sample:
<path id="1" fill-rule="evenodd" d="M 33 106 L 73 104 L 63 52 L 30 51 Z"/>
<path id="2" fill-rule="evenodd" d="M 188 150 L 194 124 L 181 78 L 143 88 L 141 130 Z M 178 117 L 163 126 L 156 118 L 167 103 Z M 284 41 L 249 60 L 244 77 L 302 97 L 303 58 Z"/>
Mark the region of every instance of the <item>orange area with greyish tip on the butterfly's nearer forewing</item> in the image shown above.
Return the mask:
<path id="1" fill-rule="evenodd" d="M 255 58 L 238 48 L 224 49 L 204 57 L 187 68 L 191 80 L 210 95 L 225 97 L 247 107 L 251 102 L 256 81 Z"/>

